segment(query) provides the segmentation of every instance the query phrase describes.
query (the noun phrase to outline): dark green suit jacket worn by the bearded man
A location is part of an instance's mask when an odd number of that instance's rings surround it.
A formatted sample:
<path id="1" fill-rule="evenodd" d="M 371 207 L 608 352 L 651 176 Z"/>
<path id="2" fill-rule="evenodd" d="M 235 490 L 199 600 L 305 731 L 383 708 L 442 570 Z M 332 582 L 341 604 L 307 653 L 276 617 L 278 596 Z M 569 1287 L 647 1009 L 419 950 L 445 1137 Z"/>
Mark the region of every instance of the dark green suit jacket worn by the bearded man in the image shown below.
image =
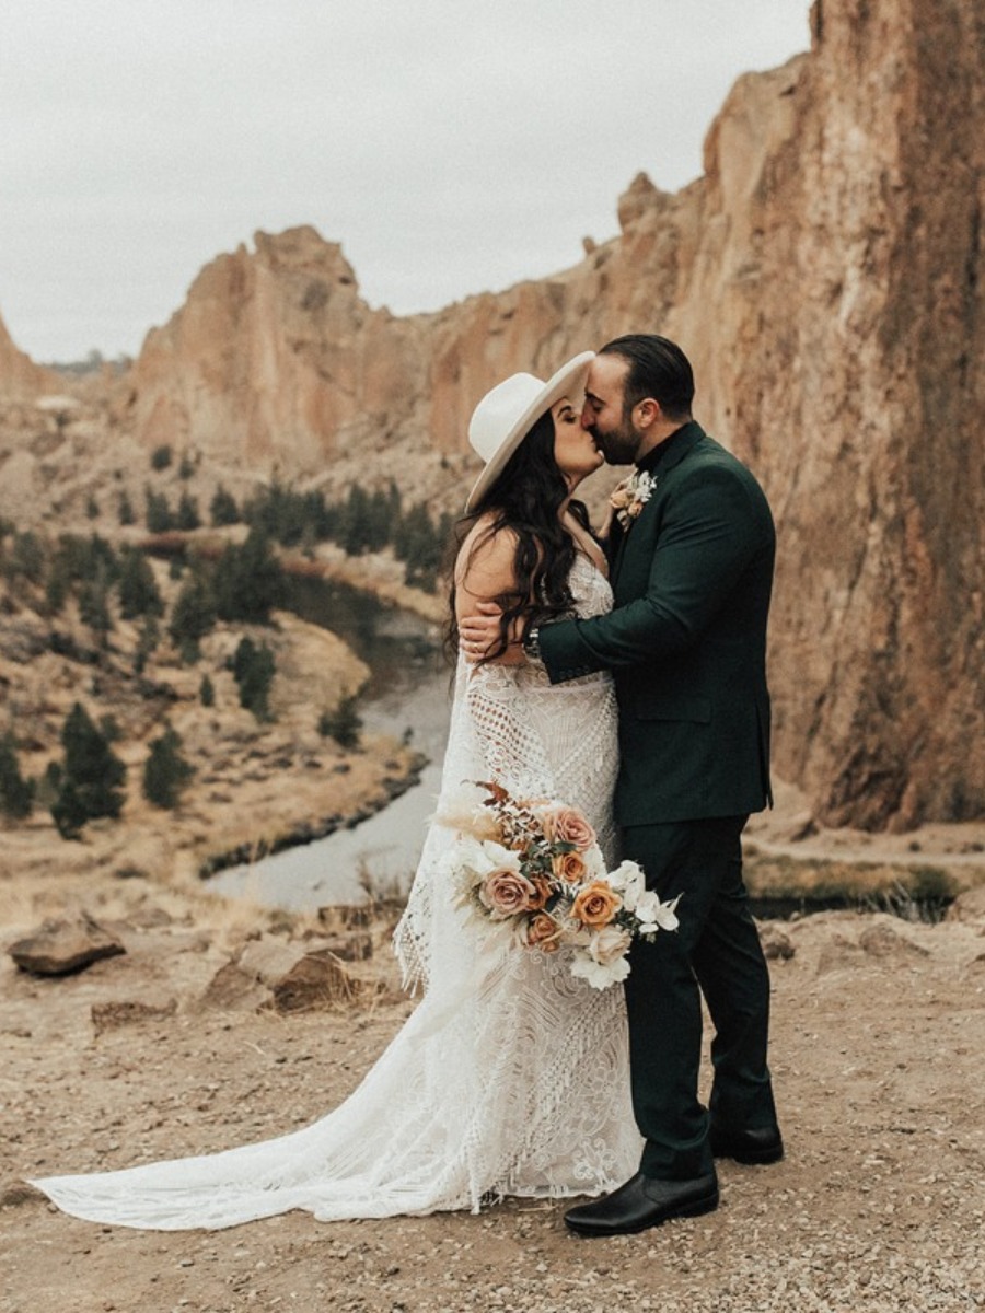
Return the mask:
<path id="1" fill-rule="evenodd" d="M 771 802 L 766 622 L 776 534 L 753 474 L 693 421 L 642 462 L 657 483 L 609 542 L 615 608 L 545 625 L 552 683 L 612 670 L 616 821 L 743 815 Z"/>

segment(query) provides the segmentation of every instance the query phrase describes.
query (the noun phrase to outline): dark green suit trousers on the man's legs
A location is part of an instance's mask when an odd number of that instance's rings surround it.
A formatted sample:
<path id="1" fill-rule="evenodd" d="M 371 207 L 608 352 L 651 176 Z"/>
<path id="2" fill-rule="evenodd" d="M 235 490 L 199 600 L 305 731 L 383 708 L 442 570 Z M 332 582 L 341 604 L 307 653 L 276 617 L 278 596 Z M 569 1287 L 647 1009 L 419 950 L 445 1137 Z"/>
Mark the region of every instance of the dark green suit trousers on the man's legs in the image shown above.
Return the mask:
<path id="1" fill-rule="evenodd" d="M 776 1120 L 767 1035 L 770 974 L 742 882 L 747 817 L 629 826 L 624 855 L 662 899 L 682 894 L 680 927 L 636 940 L 625 981 L 641 1170 L 674 1180 L 712 1170 L 709 1115 L 743 1130 Z M 709 1108 L 697 1098 L 701 994 L 714 1025 Z"/>

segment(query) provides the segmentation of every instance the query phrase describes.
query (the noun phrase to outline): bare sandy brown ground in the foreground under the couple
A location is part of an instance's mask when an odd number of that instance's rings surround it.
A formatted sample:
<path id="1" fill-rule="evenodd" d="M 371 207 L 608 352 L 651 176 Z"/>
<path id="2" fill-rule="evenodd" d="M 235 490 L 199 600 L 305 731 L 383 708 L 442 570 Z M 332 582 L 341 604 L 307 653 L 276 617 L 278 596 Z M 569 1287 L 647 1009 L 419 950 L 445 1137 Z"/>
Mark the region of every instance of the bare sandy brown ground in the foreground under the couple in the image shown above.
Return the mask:
<path id="1" fill-rule="evenodd" d="M 774 818 L 771 842 L 795 821 Z M 968 842 L 977 838 L 943 847 Z M 985 1306 L 981 888 L 936 926 L 851 911 L 767 923 L 767 940 L 793 951 L 771 964 L 785 1161 L 725 1162 L 717 1213 L 607 1241 L 569 1236 L 562 1205 L 550 1203 L 345 1224 L 292 1213 L 219 1233 L 133 1232 L 58 1213 L 21 1178 L 301 1127 L 357 1085 L 412 1003 L 397 990 L 386 926 L 374 956 L 353 968 L 378 990 L 284 1018 L 219 1011 L 204 994 L 247 936 L 297 939 L 313 932 L 310 918 L 98 873 L 81 882 L 35 873 L 0 892 L 7 944 L 68 906 L 126 945 L 60 979 L 30 977 L 3 955 L 3 1313 Z M 98 1004 L 126 1002 L 162 1011 L 93 1023 L 93 1007 L 98 1019 Z"/>

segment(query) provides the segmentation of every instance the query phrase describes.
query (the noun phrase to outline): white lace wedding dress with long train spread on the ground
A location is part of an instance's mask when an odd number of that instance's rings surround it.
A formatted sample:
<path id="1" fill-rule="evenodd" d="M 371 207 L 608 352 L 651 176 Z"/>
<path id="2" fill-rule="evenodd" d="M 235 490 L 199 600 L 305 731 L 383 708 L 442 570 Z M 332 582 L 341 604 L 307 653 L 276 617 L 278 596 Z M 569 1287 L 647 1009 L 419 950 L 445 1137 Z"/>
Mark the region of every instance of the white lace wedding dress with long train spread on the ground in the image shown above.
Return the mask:
<path id="1" fill-rule="evenodd" d="M 612 605 L 582 555 L 579 614 Z M 613 855 L 611 676 L 552 687 L 540 667 L 458 660 L 441 804 L 462 781 L 574 804 Z M 395 948 L 423 998 L 355 1092 L 303 1130 L 198 1158 L 34 1180 L 64 1212 L 158 1230 L 235 1226 L 293 1208 L 322 1221 L 478 1211 L 503 1196 L 600 1194 L 638 1166 L 623 990 L 566 956 L 483 951 L 462 924 L 432 823 Z"/>

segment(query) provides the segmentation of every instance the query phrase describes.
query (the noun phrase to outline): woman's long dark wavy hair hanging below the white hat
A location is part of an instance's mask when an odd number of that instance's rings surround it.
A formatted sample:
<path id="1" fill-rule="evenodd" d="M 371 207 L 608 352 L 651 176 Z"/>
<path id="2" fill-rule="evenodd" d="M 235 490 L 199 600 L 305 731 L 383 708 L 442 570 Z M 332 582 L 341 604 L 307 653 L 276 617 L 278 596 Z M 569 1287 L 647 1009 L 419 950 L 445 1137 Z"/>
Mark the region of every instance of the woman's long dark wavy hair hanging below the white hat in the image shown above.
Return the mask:
<path id="1" fill-rule="evenodd" d="M 574 565 L 575 548 L 558 516 L 566 499 L 567 483 L 554 460 L 554 419 L 548 411 L 523 439 L 482 500 L 454 527 L 452 550 L 456 557 L 481 519 L 489 523 L 478 536 L 477 548 L 504 529 L 512 529 L 517 537 L 514 558 L 516 590 L 494 599 L 503 608 L 503 614 L 499 622 L 499 645 L 487 660 L 500 656 L 508 647 L 510 625 L 514 620 L 524 620 L 525 633 L 533 624 L 558 620 L 574 611 L 567 576 Z M 584 504 L 571 500 L 569 509 L 591 533 Z M 447 639 L 449 651 L 456 653 L 458 625 L 454 616 L 454 570 L 450 575 Z"/>

